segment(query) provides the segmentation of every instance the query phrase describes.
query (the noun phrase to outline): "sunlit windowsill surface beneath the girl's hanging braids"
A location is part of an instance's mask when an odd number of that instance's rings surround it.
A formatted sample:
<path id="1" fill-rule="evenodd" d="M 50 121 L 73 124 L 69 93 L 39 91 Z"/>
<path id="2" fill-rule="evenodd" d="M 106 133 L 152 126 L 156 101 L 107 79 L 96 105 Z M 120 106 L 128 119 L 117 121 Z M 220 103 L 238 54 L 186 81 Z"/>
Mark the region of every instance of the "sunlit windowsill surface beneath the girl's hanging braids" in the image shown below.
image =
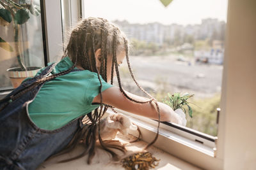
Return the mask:
<path id="1" fill-rule="evenodd" d="M 134 139 L 134 136 L 122 136 L 121 134 L 118 134 L 116 139 L 122 141 L 122 143 L 127 143 L 128 141 L 131 141 Z M 147 143 L 145 141 L 137 141 L 131 144 L 128 144 L 125 146 L 127 148 L 127 155 L 132 152 L 141 152 L 143 148 L 147 146 Z M 120 163 L 111 163 L 109 159 L 109 155 L 101 150 L 96 150 L 95 157 L 92 159 L 92 164 L 88 165 L 86 163 L 87 155 L 76 160 L 72 160 L 70 162 L 65 162 L 58 164 L 56 163 L 58 160 L 67 159 L 70 157 L 73 157 L 74 155 L 77 155 L 81 152 L 81 146 L 78 146 L 73 152 L 67 153 L 65 155 L 60 155 L 59 157 L 55 157 L 49 160 L 46 160 L 44 163 L 42 163 L 36 170 L 50 170 L 50 169 L 104 169 L 104 170 L 114 170 L 114 169 L 124 169 Z M 152 153 L 153 157 L 156 157 L 156 159 L 159 160 L 159 165 L 156 166 L 155 169 L 191 169 L 196 170 L 200 169 L 196 166 L 193 166 L 192 164 L 189 164 L 188 162 L 181 160 L 177 157 L 173 157 L 173 155 L 170 155 L 170 153 L 164 152 L 163 150 L 160 150 L 159 148 L 156 148 L 154 146 L 151 146 L 147 150 L 148 152 Z"/>

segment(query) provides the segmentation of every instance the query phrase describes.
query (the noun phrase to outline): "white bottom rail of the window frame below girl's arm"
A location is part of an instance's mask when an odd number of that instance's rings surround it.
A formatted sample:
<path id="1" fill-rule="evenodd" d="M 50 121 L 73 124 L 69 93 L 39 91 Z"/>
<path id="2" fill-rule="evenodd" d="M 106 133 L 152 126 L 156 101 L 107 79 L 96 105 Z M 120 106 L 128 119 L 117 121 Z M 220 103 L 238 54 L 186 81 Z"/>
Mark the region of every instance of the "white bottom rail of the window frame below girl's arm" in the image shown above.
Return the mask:
<path id="1" fill-rule="evenodd" d="M 131 118 L 132 123 L 138 125 L 143 141 L 150 143 L 155 138 L 158 124 L 156 121 L 149 118 L 139 117 L 122 110 L 116 111 L 128 115 Z M 108 112 L 111 113 L 112 111 L 108 110 Z M 189 129 L 188 127 L 182 127 L 177 124 L 174 125 L 183 129 Z M 195 131 L 193 129 L 189 130 Z M 203 134 L 201 132 L 197 133 Z M 138 136 L 138 132 L 130 131 L 129 134 Z M 154 146 L 181 160 L 194 164 L 195 166 L 204 169 L 221 169 L 223 160 L 216 158 L 217 137 L 209 136 L 207 134 L 204 134 L 204 136 L 206 136 L 206 138 L 209 137 L 214 139 L 215 142 L 169 127 L 168 125 L 160 124 L 159 136 L 156 143 L 154 143 Z M 204 144 L 199 143 L 198 141 L 204 141 Z"/>

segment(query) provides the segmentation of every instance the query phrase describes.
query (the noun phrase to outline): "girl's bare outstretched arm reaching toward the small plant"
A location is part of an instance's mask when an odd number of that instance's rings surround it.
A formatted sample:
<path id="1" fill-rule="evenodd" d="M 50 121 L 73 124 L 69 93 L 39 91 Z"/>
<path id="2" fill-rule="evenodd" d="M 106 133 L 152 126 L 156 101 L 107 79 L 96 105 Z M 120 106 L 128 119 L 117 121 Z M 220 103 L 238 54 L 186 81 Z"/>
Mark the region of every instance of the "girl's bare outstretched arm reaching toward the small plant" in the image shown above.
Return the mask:
<path id="1" fill-rule="evenodd" d="M 126 94 L 136 101 L 148 101 L 148 99 L 145 97 L 136 96 L 129 92 L 126 92 Z M 100 103 L 100 94 L 93 99 L 93 103 Z M 108 104 L 120 110 L 134 113 L 136 115 L 158 120 L 158 113 L 157 113 L 157 110 L 155 109 L 156 103 L 152 102 L 152 103 L 140 104 L 140 103 L 132 102 L 122 94 L 119 87 L 110 87 L 109 89 L 104 90 L 102 92 L 102 103 Z M 170 106 L 164 103 L 159 103 L 159 102 L 157 103 L 159 105 L 161 122 L 170 121 L 170 122 L 179 124 L 179 115 L 177 115 L 172 110 L 172 108 L 170 108 Z"/>

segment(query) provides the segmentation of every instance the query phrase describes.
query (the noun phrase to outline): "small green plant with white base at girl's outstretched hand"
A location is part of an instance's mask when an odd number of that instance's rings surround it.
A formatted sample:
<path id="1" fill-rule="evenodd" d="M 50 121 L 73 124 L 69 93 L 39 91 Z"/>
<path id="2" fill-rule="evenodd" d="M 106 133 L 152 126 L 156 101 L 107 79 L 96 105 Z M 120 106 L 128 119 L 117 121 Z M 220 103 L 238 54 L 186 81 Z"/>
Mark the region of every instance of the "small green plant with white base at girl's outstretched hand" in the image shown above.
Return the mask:
<path id="1" fill-rule="evenodd" d="M 192 118 L 192 114 L 193 111 L 191 109 L 191 107 L 189 106 L 189 102 L 188 99 L 190 97 L 193 97 L 194 94 L 180 94 L 180 93 L 174 93 L 172 95 L 170 95 L 168 93 L 168 99 L 164 100 L 164 103 L 168 104 L 174 111 L 175 113 L 177 113 L 178 115 L 180 115 L 180 117 L 182 118 L 182 125 L 186 126 L 186 109 L 184 108 L 184 106 L 188 107 L 188 113 L 189 113 L 189 117 Z M 184 114 L 185 113 L 185 114 Z"/>

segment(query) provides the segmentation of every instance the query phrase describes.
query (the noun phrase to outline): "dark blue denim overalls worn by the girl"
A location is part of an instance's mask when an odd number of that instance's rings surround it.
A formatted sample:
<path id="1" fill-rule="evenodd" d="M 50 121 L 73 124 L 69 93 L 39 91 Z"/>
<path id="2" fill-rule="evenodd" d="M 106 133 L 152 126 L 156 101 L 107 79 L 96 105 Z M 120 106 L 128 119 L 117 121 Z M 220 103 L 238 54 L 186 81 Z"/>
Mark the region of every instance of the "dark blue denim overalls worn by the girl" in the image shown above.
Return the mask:
<path id="1" fill-rule="evenodd" d="M 22 83 L 0 101 L 0 169 L 36 169 L 49 156 L 67 146 L 74 134 L 84 127 L 83 116 L 54 131 L 36 127 L 29 118 L 28 103 L 35 99 L 42 85 L 29 90 L 15 101 L 8 99 L 36 79 L 47 76 L 54 66 L 51 64 L 45 67 L 41 74 Z M 3 109 L 6 104 L 4 100 L 9 101 L 9 104 Z"/>

